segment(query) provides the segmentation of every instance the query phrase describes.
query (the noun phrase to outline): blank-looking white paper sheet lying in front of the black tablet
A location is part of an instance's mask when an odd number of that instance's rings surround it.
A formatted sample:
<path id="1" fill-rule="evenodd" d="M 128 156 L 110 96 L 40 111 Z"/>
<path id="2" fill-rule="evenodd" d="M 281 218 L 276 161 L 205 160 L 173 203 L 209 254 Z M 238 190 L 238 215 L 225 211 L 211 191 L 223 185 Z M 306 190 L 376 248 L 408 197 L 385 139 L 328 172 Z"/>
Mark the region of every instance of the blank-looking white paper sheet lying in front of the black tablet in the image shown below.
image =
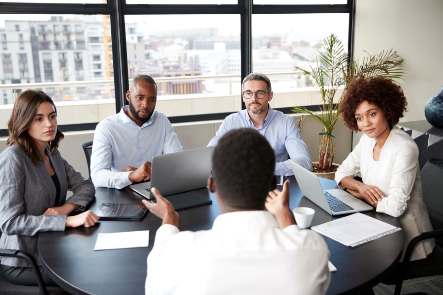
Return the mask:
<path id="1" fill-rule="evenodd" d="M 99 233 L 94 250 L 138 248 L 149 246 L 149 231 Z"/>

